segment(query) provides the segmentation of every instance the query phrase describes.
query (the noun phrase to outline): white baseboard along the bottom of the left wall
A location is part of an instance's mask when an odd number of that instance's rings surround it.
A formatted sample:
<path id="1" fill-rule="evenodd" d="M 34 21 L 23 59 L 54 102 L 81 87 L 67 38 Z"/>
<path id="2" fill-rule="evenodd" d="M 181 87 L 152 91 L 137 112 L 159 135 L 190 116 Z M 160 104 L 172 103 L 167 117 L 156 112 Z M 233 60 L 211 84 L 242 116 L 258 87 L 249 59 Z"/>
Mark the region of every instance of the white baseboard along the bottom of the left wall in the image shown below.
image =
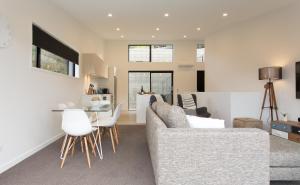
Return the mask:
<path id="1" fill-rule="evenodd" d="M 47 147 L 48 145 L 52 144 L 53 142 L 55 142 L 56 140 L 61 138 L 63 135 L 64 135 L 64 133 L 60 133 L 60 134 L 48 139 L 44 143 L 38 145 L 37 147 L 35 147 L 35 148 L 19 155 L 15 159 L 13 159 L 13 160 L 7 162 L 6 164 L 0 166 L 0 174 L 5 172 L 6 170 L 10 169 L 11 167 L 15 166 L 16 164 L 20 163 L 24 159 L 27 159 L 28 157 L 32 156 L 36 152 L 38 152 L 38 151 L 42 150 L 43 148 Z"/>

